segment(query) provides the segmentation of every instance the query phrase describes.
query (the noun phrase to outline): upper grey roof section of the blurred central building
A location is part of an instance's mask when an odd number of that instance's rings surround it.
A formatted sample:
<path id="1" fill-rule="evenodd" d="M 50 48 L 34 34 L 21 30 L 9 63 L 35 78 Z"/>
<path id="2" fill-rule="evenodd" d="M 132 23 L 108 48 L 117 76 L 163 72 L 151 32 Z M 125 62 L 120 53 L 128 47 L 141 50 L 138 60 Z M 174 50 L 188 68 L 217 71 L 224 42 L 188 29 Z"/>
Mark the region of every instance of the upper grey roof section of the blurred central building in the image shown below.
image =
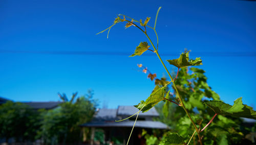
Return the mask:
<path id="1" fill-rule="evenodd" d="M 139 110 L 134 106 L 119 106 L 117 109 L 117 115 L 118 116 L 131 116 L 138 112 Z M 139 116 L 159 116 L 158 112 L 156 111 L 155 107 L 151 108 L 147 112 L 140 112 Z"/>

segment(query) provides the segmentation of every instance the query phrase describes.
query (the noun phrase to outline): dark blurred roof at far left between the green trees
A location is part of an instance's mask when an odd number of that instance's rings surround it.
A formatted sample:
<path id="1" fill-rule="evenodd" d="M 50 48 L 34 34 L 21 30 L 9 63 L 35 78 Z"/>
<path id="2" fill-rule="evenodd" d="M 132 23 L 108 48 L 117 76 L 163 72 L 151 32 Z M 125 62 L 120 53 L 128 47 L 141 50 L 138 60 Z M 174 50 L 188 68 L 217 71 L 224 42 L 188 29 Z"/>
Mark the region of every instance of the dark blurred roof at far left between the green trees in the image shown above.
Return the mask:
<path id="1" fill-rule="evenodd" d="M 24 104 L 29 105 L 33 109 L 53 109 L 61 103 L 62 102 L 24 102 Z"/>

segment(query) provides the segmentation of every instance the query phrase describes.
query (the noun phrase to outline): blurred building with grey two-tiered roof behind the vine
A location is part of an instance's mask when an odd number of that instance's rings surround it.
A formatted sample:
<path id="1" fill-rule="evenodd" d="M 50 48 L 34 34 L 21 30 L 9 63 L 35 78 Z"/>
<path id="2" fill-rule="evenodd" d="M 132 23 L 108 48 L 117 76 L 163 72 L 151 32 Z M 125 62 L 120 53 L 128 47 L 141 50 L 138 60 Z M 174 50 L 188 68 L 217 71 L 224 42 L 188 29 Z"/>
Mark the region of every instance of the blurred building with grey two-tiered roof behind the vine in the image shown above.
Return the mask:
<path id="1" fill-rule="evenodd" d="M 115 120 L 125 119 L 138 111 L 134 106 L 119 106 L 117 109 L 99 109 L 95 113 L 92 122 L 82 124 L 81 127 L 91 128 L 91 144 L 95 144 L 93 142 L 95 131 L 101 131 L 103 133 L 103 143 L 111 143 L 114 139 L 119 139 L 119 142 L 120 140 L 122 141 L 121 144 L 126 144 L 137 114 L 121 122 L 116 122 Z M 159 117 L 154 107 L 145 113 L 139 113 L 129 141 L 130 144 L 144 144 L 144 139 L 141 136 L 142 129 L 147 130 L 147 132 L 152 132 L 152 129 L 168 129 L 165 124 L 154 121 L 154 117 Z"/>

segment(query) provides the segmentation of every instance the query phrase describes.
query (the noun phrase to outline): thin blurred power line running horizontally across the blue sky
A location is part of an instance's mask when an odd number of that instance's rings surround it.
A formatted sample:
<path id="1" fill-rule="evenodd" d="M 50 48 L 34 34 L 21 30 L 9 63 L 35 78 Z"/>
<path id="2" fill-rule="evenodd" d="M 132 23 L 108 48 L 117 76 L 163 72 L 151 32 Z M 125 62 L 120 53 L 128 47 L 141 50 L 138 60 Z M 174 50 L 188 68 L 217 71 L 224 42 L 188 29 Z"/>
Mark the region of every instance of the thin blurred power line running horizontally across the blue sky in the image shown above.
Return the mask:
<path id="1" fill-rule="evenodd" d="M 0 54 L 45 54 L 45 55 L 114 55 L 130 56 L 128 52 L 97 52 L 97 51 L 17 51 L 0 50 Z M 161 56 L 177 56 L 180 53 L 160 53 Z M 192 52 L 193 55 L 211 57 L 256 57 L 256 52 Z M 155 56 L 154 53 L 145 53 L 143 56 Z"/>

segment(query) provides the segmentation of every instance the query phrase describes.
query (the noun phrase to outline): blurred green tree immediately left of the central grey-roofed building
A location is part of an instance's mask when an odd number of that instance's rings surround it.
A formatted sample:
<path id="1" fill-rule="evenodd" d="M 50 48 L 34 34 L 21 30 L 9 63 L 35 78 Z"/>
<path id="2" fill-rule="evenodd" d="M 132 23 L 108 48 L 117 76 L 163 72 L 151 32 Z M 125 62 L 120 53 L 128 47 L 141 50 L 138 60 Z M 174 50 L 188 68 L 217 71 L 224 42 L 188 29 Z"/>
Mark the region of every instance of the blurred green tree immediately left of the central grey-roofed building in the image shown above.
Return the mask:
<path id="1" fill-rule="evenodd" d="M 79 125 L 89 122 L 95 112 L 96 102 L 92 92 L 81 96 L 74 102 L 76 93 L 68 101 L 66 95 L 60 95 L 66 102 L 56 109 L 41 113 L 41 130 L 38 138 L 43 138 L 47 144 L 68 143 L 76 144 L 81 141 Z"/>

